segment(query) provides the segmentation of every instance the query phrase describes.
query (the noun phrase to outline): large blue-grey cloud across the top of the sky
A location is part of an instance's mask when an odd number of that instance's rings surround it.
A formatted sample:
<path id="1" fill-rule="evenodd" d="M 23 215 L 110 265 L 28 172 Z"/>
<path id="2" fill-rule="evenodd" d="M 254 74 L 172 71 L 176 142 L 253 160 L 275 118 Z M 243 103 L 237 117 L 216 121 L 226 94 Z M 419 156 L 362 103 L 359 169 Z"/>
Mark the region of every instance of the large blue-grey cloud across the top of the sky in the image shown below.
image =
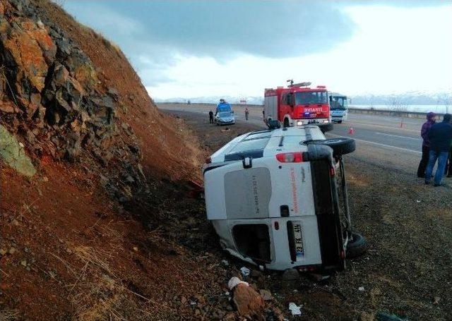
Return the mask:
<path id="1" fill-rule="evenodd" d="M 354 27 L 328 1 L 68 1 L 66 9 L 131 54 L 142 43 L 217 59 L 300 56 L 331 49 Z"/>

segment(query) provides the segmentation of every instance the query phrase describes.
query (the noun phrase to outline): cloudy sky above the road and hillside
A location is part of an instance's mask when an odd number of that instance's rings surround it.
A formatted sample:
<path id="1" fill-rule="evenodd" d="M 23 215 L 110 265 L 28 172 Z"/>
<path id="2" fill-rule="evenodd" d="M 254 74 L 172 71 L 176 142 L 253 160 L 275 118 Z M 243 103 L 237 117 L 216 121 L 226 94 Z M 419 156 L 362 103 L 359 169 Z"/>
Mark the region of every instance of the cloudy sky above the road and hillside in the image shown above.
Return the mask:
<path id="1" fill-rule="evenodd" d="M 67 0 L 153 98 L 261 96 L 285 80 L 347 95 L 452 90 L 452 1 Z"/>

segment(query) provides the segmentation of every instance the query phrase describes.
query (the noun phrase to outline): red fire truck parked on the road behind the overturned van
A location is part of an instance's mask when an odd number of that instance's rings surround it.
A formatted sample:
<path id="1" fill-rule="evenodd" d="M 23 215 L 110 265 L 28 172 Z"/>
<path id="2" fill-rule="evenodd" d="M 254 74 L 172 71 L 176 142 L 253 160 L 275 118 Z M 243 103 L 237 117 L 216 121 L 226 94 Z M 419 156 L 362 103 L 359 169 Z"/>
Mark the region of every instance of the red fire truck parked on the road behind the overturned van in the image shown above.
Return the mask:
<path id="1" fill-rule="evenodd" d="M 264 121 L 278 119 L 284 127 L 308 123 L 331 123 L 328 91 L 325 86 L 287 80 L 287 87 L 268 88 L 264 94 Z"/>

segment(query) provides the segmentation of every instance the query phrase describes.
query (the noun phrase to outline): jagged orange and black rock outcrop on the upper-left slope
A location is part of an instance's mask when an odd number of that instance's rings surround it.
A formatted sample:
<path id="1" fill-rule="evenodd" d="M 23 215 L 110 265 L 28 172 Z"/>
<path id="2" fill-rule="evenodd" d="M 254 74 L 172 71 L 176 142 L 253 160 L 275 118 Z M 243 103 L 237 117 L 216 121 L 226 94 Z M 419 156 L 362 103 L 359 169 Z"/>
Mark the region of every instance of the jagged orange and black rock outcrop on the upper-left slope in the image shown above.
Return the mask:
<path id="1" fill-rule="evenodd" d="M 118 95 L 39 2 L 0 2 L 1 126 L 21 137 L 35 164 L 43 157 L 69 162 L 85 157 L 82 162 L 90 164 L 92 159 L 104 169 L 102 185 L 109 195 L 128 202 L 148 186 L 140 174 L 136 136 L 117 118 Z M 120 135 L 124 128 L 126 138 Z M 124 177 L 129 181 L 121 181 Z"/>

